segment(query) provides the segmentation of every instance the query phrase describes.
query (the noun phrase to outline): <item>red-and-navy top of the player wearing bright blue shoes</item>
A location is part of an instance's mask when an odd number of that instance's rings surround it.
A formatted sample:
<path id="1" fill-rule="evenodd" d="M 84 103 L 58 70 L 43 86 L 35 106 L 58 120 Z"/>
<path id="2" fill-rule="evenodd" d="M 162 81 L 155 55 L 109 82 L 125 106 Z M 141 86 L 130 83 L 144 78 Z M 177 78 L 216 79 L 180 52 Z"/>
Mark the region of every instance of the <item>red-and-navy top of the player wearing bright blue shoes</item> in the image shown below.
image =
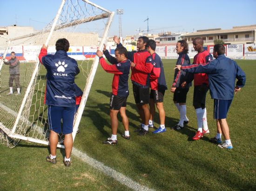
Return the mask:
<path id="1" fill-rule="evenodd" d="M 149 80 L 150 88 L 153 90 L 166 90 L 167 85 L 164 76 L 162 60 L 158 54 L 154 53 L 147 58 L 146 63 L 151 63 L 153 69 L 151 70 Z"/>

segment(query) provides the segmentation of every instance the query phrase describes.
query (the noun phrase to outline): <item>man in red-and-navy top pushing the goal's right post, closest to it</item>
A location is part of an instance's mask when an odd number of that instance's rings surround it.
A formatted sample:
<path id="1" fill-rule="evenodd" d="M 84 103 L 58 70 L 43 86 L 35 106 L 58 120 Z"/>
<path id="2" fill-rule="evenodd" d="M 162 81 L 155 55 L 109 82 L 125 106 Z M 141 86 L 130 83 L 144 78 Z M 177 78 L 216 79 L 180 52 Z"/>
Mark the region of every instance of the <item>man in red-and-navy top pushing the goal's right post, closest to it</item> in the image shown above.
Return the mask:
<path id="1" fill-rule="evenodd" d="M 105 48 L 104 48 L 105 49 Z M 122 117 L 122 123 L 124 126 L 124 134 L 121 136 L 125 139 L 130 139 L 129 135 L 129 122 L 126 115 L 127 97 L 129 95 L 128 89 L 128 76 L 131 67 L 131 61 L 127 59 L 127 50 L 125 47 L 117 47 L 115 49 L 115 59 L 117 64 L 109 65 L 106 63 L 103 53 L 100 50 L 96 52 L 100 59 L 102 68 L 108 72 L 114 74 L 112 82 L 112 96 L 110 98 L 109 113 L 111 118 L 112 135 L 107 140 L 103 141 L 105 145 L 116 145 L 117 144 L 117 127 L 118 119 L 117 114 L 120 111 Z M 110 57 L 112 57 L 110 55 Z"/>

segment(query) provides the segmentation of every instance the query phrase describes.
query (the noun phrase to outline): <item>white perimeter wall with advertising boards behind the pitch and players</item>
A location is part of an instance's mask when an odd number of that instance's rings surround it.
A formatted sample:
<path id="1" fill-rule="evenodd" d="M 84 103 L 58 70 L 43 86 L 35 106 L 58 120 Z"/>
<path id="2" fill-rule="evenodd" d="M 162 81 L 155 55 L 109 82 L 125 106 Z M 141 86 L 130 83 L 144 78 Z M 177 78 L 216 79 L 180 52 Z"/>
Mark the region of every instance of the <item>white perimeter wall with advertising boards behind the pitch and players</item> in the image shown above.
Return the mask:
<path id="1" fill-rule="evenodd" d="M 208 45 L 207 50 L 212 54 L 214 45 Z M 226 48 L 225 56 L 231 59 L 256 59 L 256 45 L 255 44 L 246 44 L 246 45 L 224 45 Z M 161 58 L 167 59 L 177 59 L 178 54 L 175 50 L 175 45 L 168 45 L 168 46 L 156 46 L 155 52 Z M 38 52 L 41 48 L 41 45 L 21 45 L 21 46 L 12 46 L 7 51 L 6 58 L 11 58 L 11 52 L 14 51 L 16 53 L 16 57 L 21 62 L 35 62 L 37 57 L 34 56 L 34 52 Z M 109 53 L 115 57 L 115 46 L 108 46 L 107 50 Z M 132 45 L 127 45 L 128 51 L 133 51 L 136 47 Z M 76 60 L 83 60 L 86 59 L 93 59 L 96 56 L 96 51 L 98 46 L 70 46 L 67 52 L 67 55 L 76 59 Z M 49 46 L 47 50 L 48 54 L 54 54 L 56 52 L 55 46 Z M 0 48 L 0 58 L 4 53 L 4 48 Z M 197 52 L 194 50 L 192 45 L 189 45 L 189 57 L 193 58 Z"/>

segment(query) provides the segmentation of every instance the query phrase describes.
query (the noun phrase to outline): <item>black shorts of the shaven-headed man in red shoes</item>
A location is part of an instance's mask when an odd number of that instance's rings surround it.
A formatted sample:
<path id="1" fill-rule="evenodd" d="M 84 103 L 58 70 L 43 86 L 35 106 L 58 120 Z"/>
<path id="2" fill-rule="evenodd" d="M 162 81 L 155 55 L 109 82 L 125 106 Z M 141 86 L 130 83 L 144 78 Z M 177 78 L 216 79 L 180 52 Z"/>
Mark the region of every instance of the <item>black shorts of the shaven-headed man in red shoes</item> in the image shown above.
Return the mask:
<path id="1" fill-rule="evenodd" d="M 209 90 L 207 84 L 202 84 L 194 87 L 193 106 L 200 108 L 200 105 L 205 105 L 206 93 Z"/>

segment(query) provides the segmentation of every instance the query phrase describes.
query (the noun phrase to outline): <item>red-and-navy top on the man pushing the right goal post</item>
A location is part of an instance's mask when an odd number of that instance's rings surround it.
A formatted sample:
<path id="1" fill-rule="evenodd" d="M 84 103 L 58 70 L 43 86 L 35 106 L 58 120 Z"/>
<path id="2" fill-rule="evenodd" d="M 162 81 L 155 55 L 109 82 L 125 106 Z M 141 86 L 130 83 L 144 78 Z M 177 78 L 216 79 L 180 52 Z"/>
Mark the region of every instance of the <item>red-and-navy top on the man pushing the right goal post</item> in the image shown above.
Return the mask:
<path id="1" fill-rule="evenodd" d="M 115 96 L 127 97 L 129 95 L 128 77 L 131 61 L 127 59 L 123 62 L 109 65 L 106 63 L 104 57 L 100 57 L 100 64 L 106 72 L 114 74 L 112 82 L 112 94 Z"/>

